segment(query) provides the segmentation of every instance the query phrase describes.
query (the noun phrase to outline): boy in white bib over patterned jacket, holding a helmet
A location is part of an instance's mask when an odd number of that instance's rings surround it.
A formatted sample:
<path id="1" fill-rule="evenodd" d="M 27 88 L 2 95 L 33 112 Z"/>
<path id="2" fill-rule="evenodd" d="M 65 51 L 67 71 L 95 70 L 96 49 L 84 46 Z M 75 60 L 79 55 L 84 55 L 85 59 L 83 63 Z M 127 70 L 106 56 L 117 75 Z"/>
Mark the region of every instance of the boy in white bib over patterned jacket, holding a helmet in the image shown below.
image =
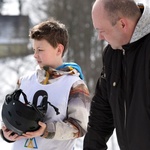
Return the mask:
<path id="1" fill-rule="evenodd" d="M 35 93 L 44 90 L 60 114 L 48 107 L 38 130 L 18 136 L 3 126 L 3 138 L 14 142 L 13 150 L 73 150 L 75 139 L 86 133 L 90 103 L 80 67 L 63 63 L 68 31 L 64 24 L 51 19 L 34 26 L 30 38 L 38 67 L 34 73 L 21 77 L 18 85 L 31 102 Z"/>

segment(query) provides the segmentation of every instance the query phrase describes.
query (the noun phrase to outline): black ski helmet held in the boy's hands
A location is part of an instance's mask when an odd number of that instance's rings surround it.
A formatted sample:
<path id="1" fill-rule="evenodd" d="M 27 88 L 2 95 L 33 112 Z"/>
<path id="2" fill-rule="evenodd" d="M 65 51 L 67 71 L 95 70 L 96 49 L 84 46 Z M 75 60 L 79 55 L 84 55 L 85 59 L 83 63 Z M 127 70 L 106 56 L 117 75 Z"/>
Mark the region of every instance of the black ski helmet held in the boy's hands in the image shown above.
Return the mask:
<path id="1" fill-rule="evenodd" d="M 19 99 L 21 94 L 24 103 Z M 2 120 L 5 126 L 18 135 L 39 129 L 38 121 L 43 121 L 47 111 L 48 98 L 45 91 L 42 91 L 40 96 L 43 98 L 41 104 L 37 106 L 37 99 L 33 98 L 35 101 L 30 104 L 26 94 L 21 89 L 7 94 L 2 107 Z"/>

